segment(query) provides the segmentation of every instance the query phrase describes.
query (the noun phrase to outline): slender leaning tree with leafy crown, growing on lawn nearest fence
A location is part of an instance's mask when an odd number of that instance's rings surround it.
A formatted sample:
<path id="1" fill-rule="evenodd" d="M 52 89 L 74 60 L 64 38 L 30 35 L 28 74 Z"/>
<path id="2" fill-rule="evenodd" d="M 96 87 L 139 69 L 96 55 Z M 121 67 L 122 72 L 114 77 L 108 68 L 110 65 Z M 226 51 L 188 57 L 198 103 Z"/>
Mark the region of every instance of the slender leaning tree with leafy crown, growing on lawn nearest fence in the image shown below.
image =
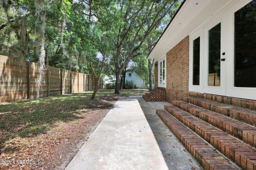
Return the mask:
<path id="1" fill-rule="evenodd" d="M 85 15 L 90 23 L 89 43 L 92 49 L 91 52 L 93 51 L 93 53 L 87 53 L 87 58 L 95 81 L 94 91 L 91 96 L 91 99 L 94 99 L 99 89 L 99 82 L 105 62 L 108 60 L 111 54 L 111 47 L 113 46 L 112 41 L 110 41 L 113 19 L 107 17 L 111 1 L 87 0 L 84 3 L 87 7 Z"/>

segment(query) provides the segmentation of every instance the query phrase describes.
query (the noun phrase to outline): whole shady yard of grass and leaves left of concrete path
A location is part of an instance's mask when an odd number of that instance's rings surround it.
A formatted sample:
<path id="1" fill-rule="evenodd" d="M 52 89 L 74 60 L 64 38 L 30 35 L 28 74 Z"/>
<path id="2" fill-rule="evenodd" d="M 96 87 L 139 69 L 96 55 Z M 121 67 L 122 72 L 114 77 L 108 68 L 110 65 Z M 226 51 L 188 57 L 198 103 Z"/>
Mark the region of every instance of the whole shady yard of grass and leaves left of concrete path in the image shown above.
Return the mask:
<path id="1" fill-rule="evenodd" d="M 100 90 L 94 100 L 92 92 L 82 92 L 1 104 L 0 169 L 65 168 L 119 96 L 145 91 Z"/>

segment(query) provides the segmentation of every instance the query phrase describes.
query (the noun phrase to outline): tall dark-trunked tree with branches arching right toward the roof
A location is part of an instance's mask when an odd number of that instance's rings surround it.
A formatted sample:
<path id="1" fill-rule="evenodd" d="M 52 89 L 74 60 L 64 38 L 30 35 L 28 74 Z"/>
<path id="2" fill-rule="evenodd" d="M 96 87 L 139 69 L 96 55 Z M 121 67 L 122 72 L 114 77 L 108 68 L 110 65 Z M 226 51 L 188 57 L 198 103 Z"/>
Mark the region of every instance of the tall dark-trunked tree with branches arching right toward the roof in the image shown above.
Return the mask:
<path id="1" fill-rule="evenodd" d="M 177 1 L 118 1 L 115 14 L 119 18 L 115 40 L 116 84 L 115 94 L 119 94 L 121 74 L 125 65 L 133 57 L 140 55 L 139 49 L 150 33 L 161 23 Z"/>

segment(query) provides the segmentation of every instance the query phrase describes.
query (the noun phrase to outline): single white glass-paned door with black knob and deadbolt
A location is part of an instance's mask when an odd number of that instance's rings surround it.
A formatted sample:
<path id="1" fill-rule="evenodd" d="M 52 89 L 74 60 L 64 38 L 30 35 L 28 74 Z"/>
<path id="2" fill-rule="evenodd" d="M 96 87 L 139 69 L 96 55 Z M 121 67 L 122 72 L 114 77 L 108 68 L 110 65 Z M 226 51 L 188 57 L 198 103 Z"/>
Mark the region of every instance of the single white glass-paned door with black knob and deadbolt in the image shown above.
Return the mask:
<path id="1" fill-rule="evenodd" d="M 204 92 L 226 95 L 226 23 L 215 19 L 204 28 Z"/>

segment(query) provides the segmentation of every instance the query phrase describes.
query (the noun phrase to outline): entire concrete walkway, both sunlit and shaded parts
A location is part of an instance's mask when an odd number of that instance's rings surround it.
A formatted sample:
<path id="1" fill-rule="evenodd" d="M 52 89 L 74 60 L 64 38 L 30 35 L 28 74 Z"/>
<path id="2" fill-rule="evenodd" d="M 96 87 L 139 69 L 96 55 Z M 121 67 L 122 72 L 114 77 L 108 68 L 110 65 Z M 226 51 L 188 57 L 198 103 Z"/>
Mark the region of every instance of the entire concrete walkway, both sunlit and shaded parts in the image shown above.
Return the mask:
<path id="1" fill-rule="evenodd" d="M 164 104 L 120 98 L 66 169 L 201 169 L 156 115 Z"/>

